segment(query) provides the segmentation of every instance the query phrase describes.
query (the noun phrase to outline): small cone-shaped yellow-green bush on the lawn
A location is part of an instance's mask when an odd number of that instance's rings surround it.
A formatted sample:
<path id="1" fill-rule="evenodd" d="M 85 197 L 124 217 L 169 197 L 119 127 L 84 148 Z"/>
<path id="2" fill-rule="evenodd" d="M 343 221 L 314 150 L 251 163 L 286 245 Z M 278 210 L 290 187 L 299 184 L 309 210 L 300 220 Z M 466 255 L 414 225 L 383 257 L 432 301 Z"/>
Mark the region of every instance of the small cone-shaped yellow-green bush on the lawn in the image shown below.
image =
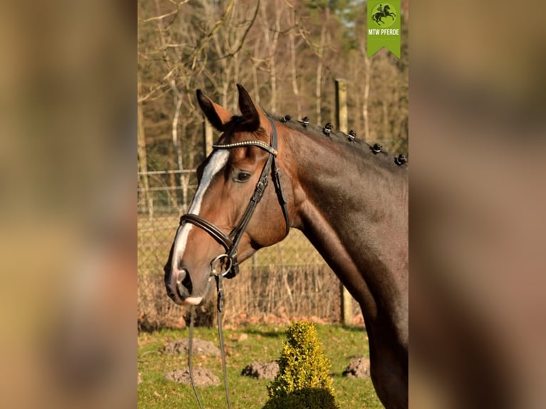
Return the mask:
<path id="1" fill-rule="evenodd" d="M 282 343 L 279 374 L 267 387 L 264 409 L 336 409 L 329 358 L 310 322 L 292 323 Z"/>

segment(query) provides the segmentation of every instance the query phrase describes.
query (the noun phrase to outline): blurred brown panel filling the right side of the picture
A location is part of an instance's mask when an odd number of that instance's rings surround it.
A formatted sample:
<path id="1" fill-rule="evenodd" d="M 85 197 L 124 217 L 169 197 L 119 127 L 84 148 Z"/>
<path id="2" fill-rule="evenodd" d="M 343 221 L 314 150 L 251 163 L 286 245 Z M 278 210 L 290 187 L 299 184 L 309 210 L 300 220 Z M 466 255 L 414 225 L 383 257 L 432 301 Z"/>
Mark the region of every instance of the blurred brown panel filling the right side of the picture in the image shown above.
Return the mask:
<path id="1" fill-rule="evenodd" d="M 415 408 L 546 405 L 543 14 L 411 3 Z"/>

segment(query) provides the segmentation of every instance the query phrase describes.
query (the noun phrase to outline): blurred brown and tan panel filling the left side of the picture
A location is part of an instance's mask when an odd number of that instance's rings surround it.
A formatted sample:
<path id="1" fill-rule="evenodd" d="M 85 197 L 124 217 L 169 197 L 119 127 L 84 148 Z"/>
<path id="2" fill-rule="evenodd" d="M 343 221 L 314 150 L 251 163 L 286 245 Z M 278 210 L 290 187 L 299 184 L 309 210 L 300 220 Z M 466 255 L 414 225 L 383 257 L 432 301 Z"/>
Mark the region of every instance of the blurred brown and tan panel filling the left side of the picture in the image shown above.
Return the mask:
<path id="1" fill-rule="evenodd" d="M 136 404 L 136 10 L 0 4 L 0 407 Z"/>

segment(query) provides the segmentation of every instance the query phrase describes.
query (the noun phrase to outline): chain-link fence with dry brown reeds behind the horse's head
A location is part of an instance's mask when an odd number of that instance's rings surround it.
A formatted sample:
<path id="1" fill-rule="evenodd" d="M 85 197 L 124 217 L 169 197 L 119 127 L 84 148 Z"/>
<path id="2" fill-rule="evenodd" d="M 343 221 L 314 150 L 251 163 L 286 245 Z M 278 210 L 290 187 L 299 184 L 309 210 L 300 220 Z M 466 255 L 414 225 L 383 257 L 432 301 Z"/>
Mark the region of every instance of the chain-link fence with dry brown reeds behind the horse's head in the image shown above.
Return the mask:
<path id="1" fill-rule="evenodd" d="M 186 192 L 170 182 L 186 177 Z M 167 296 L 163 266 L 168 259 L 180 214 L 187 197 L 195 192 L 194 172 L 148 172 L 148 192 L 139 188 L 138 204 L 138 322 L 139 327 L 180 327 L 187 321 L 185 307 Z M 193 183 L 192 183 L 193 182 Z M 185 205 L 180 205 L 185 202 Z M 212 287 L 212 286 L 211 286 Z M 339 279 L 302 232 L 292 229 L 287 239 L 261 249 L 242 263 L 240 274 L 225 280 L 225 320 L 242 322 L 289 322 L 291 319 L 336 322 L 341 316 Z M 214 294 L 201 307 L 214 315 Z M 361 313 L 354 305 L 355 321 Z M 212 312 L 211 312 L 212 311 Z M 206 321 L 206 319 L 205 319 Z"/>

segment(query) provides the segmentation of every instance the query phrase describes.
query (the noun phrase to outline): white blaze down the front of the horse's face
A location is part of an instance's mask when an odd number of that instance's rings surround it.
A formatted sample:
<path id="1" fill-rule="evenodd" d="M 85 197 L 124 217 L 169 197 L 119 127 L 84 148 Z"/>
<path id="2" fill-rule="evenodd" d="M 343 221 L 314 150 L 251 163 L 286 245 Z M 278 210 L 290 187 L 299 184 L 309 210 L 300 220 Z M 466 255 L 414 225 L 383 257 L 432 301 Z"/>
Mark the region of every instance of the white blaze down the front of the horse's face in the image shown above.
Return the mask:
<path id="1" fill-rule="evenodd" d="M 205 166 L 205 169 L 203 170 L 201 182 L 197 187 L 197 192 L 193 197 L 192 205 L 190 206 L 190 210 L 188 210 L 188 213 L 199 215 L 203 197 L 205 197 L 205 192 L 207 192 L 212 178 L 215 177 L 215 175 L 220 172 L 220 170 L 222 170 L 222 167 L 224 167 L 227 163 L 227 158 L 229 156 L 230 152 L 228 150 L 217 150 L 212 154 L 209 162 L 207 163 L 207 166 Z M 190 234 L 192 228 L 193 224 L 191 223 L 185 223 L 183 226 L 178 227 L 175 239 L 175 249 L 172 253 L 172 266 L 175 271 L 177 271 L 178 269 L 178 260 L 180 260 L 184 255 L 187 243 L 187 235 Z"/>

